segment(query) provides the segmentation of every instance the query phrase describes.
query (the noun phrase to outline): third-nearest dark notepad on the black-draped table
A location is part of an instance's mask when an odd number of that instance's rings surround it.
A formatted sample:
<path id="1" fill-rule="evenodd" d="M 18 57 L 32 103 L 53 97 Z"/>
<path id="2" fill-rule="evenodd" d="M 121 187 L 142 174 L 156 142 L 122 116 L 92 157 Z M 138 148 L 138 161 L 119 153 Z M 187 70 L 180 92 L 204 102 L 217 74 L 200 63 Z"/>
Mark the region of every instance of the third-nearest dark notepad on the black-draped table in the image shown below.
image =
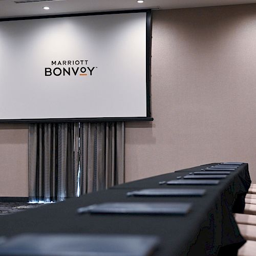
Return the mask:
<path id="1" fill-rule="evenodd" d="M 176 197 L 176 196 L 203 196 L 205 189 L 191 188 L 191 189 L 180 189 L 180 188 L 151 188 L 141 189 L 126 193 L 127 196 L 137 197 Z"/>

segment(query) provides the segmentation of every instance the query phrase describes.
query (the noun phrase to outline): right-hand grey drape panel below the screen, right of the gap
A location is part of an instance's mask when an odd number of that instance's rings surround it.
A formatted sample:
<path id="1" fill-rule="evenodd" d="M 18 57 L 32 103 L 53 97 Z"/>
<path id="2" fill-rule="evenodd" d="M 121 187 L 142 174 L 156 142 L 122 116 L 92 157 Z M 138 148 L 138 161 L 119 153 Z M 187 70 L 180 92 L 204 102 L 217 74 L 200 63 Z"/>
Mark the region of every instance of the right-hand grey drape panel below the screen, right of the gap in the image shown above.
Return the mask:
<path id="1" fill-rule="evenodd" d="M 124 182 L 124 122 L 80 123 L 80 193 Z"/>

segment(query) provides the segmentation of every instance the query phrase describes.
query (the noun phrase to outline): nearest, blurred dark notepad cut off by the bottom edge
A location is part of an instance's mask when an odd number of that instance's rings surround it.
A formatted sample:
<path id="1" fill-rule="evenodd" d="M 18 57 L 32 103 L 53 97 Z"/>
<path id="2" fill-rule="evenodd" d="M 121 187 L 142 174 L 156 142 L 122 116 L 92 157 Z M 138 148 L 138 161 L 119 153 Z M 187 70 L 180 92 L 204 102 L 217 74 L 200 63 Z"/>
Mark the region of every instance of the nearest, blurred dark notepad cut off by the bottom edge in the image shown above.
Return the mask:
<path id="1" fill-rule="evenodd" d="M 12 256 L 147 256 L 159 244 L 155 236 L 109 234 L 20 234 L 0 245 Z"/>

